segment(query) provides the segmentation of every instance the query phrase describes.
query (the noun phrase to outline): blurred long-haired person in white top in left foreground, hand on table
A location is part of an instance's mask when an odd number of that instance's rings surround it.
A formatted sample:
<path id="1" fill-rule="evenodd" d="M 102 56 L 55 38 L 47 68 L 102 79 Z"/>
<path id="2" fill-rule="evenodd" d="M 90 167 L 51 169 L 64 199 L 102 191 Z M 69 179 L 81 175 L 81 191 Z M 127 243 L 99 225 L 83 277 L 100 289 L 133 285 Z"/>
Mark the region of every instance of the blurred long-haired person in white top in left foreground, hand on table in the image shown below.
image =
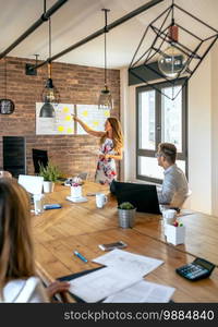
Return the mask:
<path id="1" fill-rule="evenodd" d="M 0 302 L 51 302 L 68 289 L 60 281 L 45 288 L 37 277 L 28 195 L 16 180 L 0 179 Z"/>

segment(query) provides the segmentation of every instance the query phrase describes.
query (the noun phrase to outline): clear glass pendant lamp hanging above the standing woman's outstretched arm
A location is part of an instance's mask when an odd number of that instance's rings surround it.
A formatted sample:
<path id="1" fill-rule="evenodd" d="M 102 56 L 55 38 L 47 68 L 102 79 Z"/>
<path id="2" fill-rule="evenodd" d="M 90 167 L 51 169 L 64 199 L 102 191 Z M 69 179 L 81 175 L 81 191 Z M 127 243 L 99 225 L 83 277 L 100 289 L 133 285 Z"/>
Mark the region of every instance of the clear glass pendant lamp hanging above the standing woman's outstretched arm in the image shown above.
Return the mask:
<path id="1" fill-rule="evenodd" d="M 105 12 L 105 87 L 100 90 L 100 95 L 98 98 L 98 109 L 111 110 L 113 107 L 112 96 L 110 89 L 107 84 L 107 39 L 106 34 L 108 33 L 108 23 L 107 23 L 107 14 L 110 11 L 109 9 L 102 9 Z"/>

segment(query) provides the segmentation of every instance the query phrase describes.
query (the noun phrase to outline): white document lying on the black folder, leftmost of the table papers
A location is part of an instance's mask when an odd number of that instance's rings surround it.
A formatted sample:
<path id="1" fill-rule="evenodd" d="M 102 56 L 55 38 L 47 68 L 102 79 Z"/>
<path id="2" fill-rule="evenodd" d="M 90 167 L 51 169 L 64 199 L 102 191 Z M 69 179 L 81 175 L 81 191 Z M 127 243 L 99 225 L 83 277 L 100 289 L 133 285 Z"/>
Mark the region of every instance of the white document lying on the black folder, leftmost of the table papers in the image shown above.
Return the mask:
<path id="1" fill-rule="evenodd" d="M 85 302 L 98 302 L 142 280 L 134 272 L 106 267 L 70 280 L 70 292 Z"/>

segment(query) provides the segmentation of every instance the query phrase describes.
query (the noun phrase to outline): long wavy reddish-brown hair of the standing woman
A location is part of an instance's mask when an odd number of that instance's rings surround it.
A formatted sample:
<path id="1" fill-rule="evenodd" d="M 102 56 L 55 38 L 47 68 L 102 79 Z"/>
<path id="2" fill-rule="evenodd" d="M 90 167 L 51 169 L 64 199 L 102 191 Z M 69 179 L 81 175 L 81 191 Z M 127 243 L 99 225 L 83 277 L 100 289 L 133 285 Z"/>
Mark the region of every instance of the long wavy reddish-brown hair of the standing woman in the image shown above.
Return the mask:
<path id="1" fill-rule="evenodd" d="M 123 133 L 121 123 L 116 117 L 109 117 L 107 119 L 112 128 L 112 141 L 113 141 L 113 148 L 117 153 L 120 152 L 120 149 L 123 147 Z M 100 138 L 100 144 L 105 142 L 105 140 L 108 137 L 108 134 L 106 134 Z"/>

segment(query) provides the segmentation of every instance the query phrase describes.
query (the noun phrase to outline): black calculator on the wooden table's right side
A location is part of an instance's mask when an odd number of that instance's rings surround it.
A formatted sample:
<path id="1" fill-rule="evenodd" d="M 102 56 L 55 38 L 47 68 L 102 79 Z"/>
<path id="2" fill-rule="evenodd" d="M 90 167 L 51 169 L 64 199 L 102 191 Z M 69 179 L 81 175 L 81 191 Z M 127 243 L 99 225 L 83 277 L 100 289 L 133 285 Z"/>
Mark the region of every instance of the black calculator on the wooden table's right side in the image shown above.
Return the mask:
<path id="1" fill-rule="evenodd" d="M 197 257 L 193 263 L 177 268 L 175 271 L 180 276 L 194 281 L 208 277 L 215 267 L 213 263 Z"/>

